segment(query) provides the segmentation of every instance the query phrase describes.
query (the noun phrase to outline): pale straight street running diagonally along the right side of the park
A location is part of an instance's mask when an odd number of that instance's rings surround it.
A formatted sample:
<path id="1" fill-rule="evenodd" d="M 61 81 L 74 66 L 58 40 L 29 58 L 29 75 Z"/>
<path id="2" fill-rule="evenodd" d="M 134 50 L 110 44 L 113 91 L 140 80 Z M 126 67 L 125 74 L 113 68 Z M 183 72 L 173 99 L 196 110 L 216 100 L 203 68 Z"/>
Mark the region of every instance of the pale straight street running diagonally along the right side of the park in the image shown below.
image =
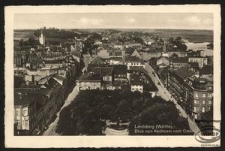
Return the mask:
<path id="1" fill-rule="evenodd" d="M 198 133 L 200 129 L 198 128 L 197 124 L 189 117 L 189 115 L 187 115 L 185 110 L 179 104 L 177 104 L 177 100 L 175 100 L 170 92 L 164 87 L 162 81 L 159 79 L 154 69 L 148 63 L 145 63 L 145 69 L 148 71 L 148 75 L 159 89 L 158 95 L 167 101 L 171 100 L 176 105 L 176 108 L 179 110 L 181 116 L 187 118 L 190 129 L 195 134 Z M 155 74 L 153 75 L 153 73 Z"/>

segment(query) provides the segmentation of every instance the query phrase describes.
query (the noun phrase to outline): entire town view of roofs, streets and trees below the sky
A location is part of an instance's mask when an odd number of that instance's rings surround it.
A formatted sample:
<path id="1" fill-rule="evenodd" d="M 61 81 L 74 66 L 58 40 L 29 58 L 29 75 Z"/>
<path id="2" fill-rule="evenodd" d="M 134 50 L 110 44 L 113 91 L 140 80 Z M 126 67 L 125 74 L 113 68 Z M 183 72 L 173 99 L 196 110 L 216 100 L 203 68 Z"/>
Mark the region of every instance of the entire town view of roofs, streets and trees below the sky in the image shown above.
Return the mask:
<path id="1" fill-rule="evenodd" d="M 213 31 L 14 30 L 14 135 L 194 135 Z"/>

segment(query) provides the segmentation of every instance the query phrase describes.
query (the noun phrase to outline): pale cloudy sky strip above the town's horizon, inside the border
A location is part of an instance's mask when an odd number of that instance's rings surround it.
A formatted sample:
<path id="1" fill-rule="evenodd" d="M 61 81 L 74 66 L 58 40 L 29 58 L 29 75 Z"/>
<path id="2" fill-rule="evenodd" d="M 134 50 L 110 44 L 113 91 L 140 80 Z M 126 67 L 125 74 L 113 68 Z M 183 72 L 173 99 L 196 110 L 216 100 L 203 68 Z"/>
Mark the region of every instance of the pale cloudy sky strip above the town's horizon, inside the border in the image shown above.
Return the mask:
<path id="1" fill-rule="evenodd" d="M 55 27 L 213 30 L 212 13 L 26 13 L 14 15 L 14 29 Z"/>

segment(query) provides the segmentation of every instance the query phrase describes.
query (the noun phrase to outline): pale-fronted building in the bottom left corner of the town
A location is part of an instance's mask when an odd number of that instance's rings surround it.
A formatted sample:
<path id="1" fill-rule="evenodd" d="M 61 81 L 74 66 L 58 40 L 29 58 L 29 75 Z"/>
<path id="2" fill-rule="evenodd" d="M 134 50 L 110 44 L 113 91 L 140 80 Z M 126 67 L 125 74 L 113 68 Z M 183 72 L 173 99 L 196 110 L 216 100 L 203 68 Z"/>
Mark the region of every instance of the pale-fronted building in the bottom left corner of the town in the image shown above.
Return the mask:
<path id="1" fill-rule="evenodd" d="M 41 94 L 14 95 L 14 123 L 16 135 L 31 135 L 41 118 L 40 112 L 46 98 Z"/>

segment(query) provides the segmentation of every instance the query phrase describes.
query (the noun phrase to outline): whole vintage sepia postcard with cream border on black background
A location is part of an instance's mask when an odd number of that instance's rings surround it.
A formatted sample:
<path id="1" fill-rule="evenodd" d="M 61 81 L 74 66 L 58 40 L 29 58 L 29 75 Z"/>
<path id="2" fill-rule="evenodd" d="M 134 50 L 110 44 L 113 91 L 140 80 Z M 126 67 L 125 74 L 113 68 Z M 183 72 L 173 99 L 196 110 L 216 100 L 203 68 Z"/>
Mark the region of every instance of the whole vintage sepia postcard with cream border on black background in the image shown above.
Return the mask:
<path id="1" fill-rule="evenodd" d="M 5 7 L 5 146 L 219 147 L 220 5 Z"/>

